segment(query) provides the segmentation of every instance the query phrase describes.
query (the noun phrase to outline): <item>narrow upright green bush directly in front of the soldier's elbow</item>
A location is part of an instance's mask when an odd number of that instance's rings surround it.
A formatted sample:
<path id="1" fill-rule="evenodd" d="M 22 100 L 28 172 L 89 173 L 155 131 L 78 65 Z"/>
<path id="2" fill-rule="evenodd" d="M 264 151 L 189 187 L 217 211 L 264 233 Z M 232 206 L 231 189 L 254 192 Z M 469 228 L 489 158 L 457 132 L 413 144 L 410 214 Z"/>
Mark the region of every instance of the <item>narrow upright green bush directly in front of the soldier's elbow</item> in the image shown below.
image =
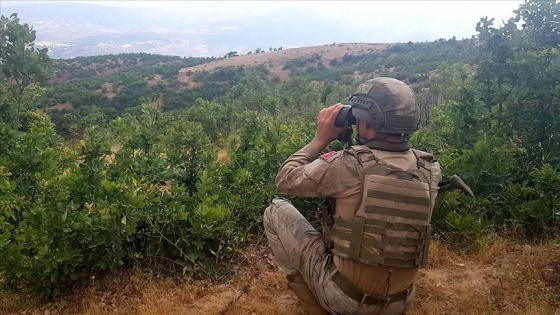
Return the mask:
<path id="1" fill-rule="evenodd" d="M 230 183 L 228 206 L 235 209 L 237 224 L 262 221 L 265 205 L 277 194 L 274 178 L 284 160 L 305 144 L 309 124 L 287 123 L 254 111 L 239 113 L 240 128 L 229 142 L 230 162 L 224 169 Z M 260 225 L 259 225 L 260 230 Z"/>

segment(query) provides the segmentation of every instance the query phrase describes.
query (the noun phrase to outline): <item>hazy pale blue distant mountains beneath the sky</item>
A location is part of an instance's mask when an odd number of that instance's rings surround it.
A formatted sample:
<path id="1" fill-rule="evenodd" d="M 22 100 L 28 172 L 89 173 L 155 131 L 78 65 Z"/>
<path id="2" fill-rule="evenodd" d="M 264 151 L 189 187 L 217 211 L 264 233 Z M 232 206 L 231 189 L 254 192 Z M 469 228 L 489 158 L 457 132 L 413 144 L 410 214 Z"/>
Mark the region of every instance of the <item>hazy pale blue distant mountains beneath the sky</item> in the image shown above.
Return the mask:
<path id="1" fill-rule="evenodd" d="M 257 48 L 359 42 L 364 41 L 364 35 L 371 38 L 369 42 L 389 39 L 382 23 L 376 29 L 364 29 L 342 19 L 295 8 L 237 19 L 205 16 L 198 14 L 196 8 L 178 12 L 160 7 L 121 8 L 84 3 L 2 9 L 3 15 L 14 12 L 22 22 L 34 27 L 36 45 L 48 47 L 53 58 L 129 52 L 221 57 L 230 51 L 245 54 Z"/>

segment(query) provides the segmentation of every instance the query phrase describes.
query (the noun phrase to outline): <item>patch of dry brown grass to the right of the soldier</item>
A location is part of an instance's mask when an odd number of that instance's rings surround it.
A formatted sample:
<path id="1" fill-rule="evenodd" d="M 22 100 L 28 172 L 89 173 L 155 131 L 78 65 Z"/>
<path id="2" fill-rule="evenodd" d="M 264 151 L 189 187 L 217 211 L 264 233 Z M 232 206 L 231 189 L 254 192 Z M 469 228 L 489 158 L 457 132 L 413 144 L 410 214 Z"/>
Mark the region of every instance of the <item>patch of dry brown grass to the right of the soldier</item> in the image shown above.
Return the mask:
<path id="1" fill-rule="evenodd" d="M 560 314 L 560 248 L 495 239 L 475 253 L 440 243 L 409 314 Z"/>

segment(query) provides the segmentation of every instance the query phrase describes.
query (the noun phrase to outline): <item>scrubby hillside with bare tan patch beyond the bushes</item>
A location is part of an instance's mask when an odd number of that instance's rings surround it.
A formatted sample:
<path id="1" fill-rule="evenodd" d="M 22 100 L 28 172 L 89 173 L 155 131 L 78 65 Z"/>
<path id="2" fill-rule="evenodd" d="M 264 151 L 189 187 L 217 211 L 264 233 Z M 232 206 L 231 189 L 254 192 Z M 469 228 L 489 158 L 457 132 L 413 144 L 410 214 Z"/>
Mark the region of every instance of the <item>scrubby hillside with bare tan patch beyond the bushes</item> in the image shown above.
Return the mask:
<path id="1" fill-rule="evenodd" d="M 85 117 L 96 110 L 114 118 L 146 100 L 165 111 L 184 109 L 199 98 L 225 97 L 241 81 L 260 75 L 266 84 L 278 88 L 288 88 L 292 80 L 318 82 L 325 87 L 323 99 L 331 102 L 343 101 L 357 80 L 380 75 L 404 80 L 426 93 L 424 87 L 439 69 L 470 62 L 472 45 L 471 41 L 455 39 L 406 44 L 329 43 L 271 47 L 245 55 L 232 52 L 232 57 L 224 58 L 139 53 L 59 59 L 40 106 L 51 110 L 59 132 L 68 135 L 66 114 Z"/>

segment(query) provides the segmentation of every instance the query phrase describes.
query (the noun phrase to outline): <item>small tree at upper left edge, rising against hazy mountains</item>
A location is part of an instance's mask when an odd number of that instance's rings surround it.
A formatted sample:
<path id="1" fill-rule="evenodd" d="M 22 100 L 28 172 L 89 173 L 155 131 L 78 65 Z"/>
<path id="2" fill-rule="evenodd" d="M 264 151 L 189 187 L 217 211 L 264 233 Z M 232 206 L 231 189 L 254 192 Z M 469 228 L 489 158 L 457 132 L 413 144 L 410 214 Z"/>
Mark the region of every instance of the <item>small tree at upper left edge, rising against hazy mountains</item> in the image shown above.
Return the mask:
<path id="1" fill-rule="evenodd" d="M 46 81 L 52 74 L 48 50 L 36 49 L 35 37 L 33 27 L 20 24 L 17 13 L 9 18 L 0 16 L 0 82 L 3 93 L 14 97 L 16 128 L 19 128 L 20 101 L 25 89 Z"/>

